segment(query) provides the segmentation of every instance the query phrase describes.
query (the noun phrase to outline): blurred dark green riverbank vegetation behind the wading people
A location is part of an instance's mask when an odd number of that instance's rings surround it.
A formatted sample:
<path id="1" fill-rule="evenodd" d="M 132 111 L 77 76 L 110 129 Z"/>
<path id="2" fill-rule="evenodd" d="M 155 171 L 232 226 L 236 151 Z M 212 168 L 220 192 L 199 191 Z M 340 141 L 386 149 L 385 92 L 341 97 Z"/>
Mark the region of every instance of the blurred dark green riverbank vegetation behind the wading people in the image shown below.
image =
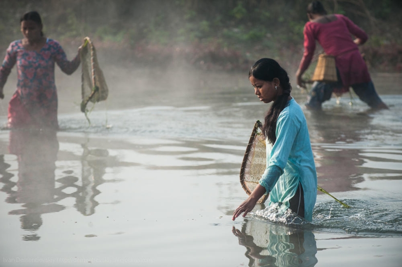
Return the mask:
<path id="1" fill-rule="evenodd" d="M 21 38 L 19 18 L 37 10 L 46 36 L 66 47 L 93 39 L 110 62 L 189 64 L 247 70 L 261 57 L 293 71 L 303 54 L 309 0 L 2 0 L 0 49 Z M 362 53 L 371 71 L 402 71 L 400 0 L 322 0 L 369 35 Z M 320 50 L 316 50 L 320 53 Z"/>

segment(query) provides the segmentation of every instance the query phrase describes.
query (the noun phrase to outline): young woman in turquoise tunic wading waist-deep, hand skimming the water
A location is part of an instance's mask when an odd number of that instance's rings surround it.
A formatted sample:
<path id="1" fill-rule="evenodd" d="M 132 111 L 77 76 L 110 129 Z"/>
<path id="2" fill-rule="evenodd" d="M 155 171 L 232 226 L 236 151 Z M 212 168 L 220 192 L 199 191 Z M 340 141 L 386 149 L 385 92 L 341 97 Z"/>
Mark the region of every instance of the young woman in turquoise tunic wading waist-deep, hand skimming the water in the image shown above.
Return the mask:
<path id="1" fill-rule="evenodd" d="M 232 220 L 242 213 L 246 216 L 261 196 L 269 194 L 269 205 L 282 203 L 311 221 L 317 173 L 306 118 L 290 96 L 287 72 L 275 60 L 262 58 L 251 67 L 249 80 L 260 101 L 272 102 L 263 127 L 267 169 L 249 198 L 234 211 Z"/>

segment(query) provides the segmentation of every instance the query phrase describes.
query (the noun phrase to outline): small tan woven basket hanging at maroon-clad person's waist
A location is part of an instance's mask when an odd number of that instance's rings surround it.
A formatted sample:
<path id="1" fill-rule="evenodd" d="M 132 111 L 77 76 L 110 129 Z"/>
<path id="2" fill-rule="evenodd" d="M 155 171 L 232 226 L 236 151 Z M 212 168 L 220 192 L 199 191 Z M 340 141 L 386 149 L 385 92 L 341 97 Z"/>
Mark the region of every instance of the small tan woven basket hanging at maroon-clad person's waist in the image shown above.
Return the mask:
<path id="1" fill-rule="evenodd" d="M 335 57 L 332 55 L 320 54 L 311 80 L 326 83 L 338 81 Z"/>

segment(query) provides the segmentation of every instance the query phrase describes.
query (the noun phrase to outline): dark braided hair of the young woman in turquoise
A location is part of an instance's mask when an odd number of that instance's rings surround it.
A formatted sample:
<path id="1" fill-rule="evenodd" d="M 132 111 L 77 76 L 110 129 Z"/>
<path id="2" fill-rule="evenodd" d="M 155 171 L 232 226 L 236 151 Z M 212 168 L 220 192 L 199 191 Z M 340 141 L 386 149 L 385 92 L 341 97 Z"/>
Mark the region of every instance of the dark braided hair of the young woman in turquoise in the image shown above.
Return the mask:
<path id="1" fill-rule="evenodd" d="M 276 122 L 279 114 L 287 107 L 287 99 L 292 90 L 289 83 L 289 76 L 279 63 L 271 58 L 261 58 L 255 62 L 249 71 L 249 77 L 251 76 L 258 80 L 269 82 L 272 82 L 274 78 L 278 78 L 282 87 L 282 95 L 278 96 L 272 103 L 264 119 L 263 133 L 265 137 L 268 138 L 268 141 L 274 144 L 276 141 Z"/>

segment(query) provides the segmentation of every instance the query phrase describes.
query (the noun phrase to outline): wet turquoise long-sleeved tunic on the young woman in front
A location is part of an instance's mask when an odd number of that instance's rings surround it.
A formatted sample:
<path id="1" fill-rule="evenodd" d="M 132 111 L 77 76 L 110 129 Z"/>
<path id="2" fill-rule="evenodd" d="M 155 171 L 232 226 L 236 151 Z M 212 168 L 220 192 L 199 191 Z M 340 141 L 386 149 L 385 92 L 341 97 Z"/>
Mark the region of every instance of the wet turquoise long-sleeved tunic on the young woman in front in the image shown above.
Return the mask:
<path id="1" fill-rule="evenodd" d="M 305 219 L 312 220 L 317 198 L 317 173 L 308 135 L 306 117 L 294 99 L 279 114 L 276 142 L 267 140 L 267 169 L 259 182 L 269 192 L 269 205 L 281 202 L 289 208 L 290 199 L 302 185 Z"/>

